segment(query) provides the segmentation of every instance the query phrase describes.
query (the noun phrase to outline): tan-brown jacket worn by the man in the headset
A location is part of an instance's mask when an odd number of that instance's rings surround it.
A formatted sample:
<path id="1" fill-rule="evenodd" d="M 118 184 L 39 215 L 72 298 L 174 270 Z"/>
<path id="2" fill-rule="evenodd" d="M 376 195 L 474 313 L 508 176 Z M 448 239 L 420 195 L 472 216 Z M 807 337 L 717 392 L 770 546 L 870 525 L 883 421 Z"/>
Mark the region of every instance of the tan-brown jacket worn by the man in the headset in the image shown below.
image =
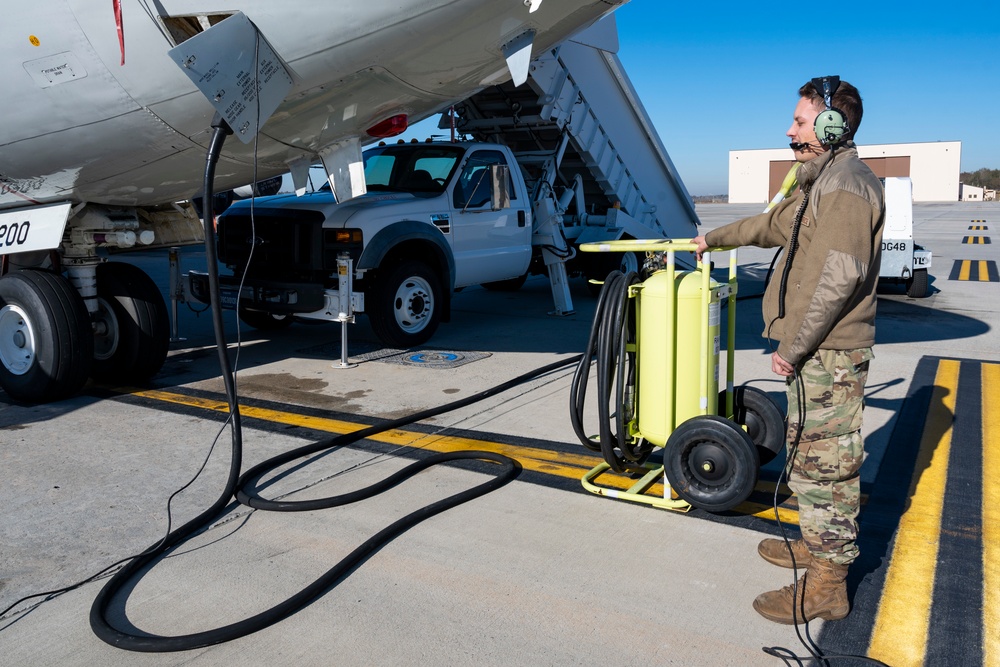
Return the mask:
<path id="1" fill-rule="evenodd" d="M 875 288 L 882 256 L 884 190 L 858 158 L 853 142 L 799 168 L 799 190 L 773 209 L 705 235 L 710 246 L 785 251 L 764 294 L 764 336 L 778 341 L 782 359 L 798 364 L 817 349 L 850 350 L 875 342 Z M 804 187 L 810 201 L 799 228 L 778 319 L 778 288 L 788 240 Z"/>

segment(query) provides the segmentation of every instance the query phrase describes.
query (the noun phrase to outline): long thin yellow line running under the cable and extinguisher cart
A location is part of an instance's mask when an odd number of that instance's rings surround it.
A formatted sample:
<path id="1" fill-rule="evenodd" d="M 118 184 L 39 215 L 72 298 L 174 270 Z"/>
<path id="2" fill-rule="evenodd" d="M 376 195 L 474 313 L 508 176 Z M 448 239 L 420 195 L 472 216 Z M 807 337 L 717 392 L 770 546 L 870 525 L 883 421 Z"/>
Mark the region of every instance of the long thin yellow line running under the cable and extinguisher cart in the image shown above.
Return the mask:
<path id="1" fill-rule="evenodd" d="M 214 412 L 229 412 L 229 404 L 226 401 L 211 398 L 199 398 L 196 396 L 186 396 L 173 392 L 160 390 L 139 390 L 119 388 L 117 391 L 129 393 L 133 396 L 141 396 L 165 403 L 174 403 L 187 407 L 211 410 Z M 301 426 L 325 433 L 353 433 L 366 428 L 365 424 L 343 421 L 339 419 L 328 419 L 326 417 L 312 417 L 293 412 L 279 410 L 269 410 L 266 408 L 255 408 L 250 406 L 240 406 L 240 415 L 253 419 L 260 419 L 276 424 L 287 424 L 289 426 Z M 369 436 L 368 440 L 385 442 L 399 447 L 412 447 L 415 449 L 426 449 L 428 451 L 445 453 L 478 449 L 497 454 L 504 454 L 517 460 L 525 470 L 555 475 L 579 481 L 584 473 L 593 468 L 599 461 L 596 456 L 579 454 L 569 454 L 566 452 L 555 452 L 537 447 L 524 447 L 520 445 L 505 445 L 489 440 L 474 440 L 472 438 L 460 438 L 455 436 L 437 435 L 433 433 L 420 433 L 417 431 L 404 431 L 393 429 L 384 433 Z M 613 486 L 622 490 L 630 488 L 635 483 L 634 479 L 623 475 L 607 474 L 602 477 L 602 484 Z M 647 493 L 651 495 L 663 495 L 663 485 L 652 485 Z M 737 508 L 746 514 L 759 516 L 765 519 L 774 518 L 774 509 L 766 505 L 746 502 Z M 782 507 L 778 508 L 781 521 L 790 525 L 798 525 L 799 514 L 795 510 Z"/>

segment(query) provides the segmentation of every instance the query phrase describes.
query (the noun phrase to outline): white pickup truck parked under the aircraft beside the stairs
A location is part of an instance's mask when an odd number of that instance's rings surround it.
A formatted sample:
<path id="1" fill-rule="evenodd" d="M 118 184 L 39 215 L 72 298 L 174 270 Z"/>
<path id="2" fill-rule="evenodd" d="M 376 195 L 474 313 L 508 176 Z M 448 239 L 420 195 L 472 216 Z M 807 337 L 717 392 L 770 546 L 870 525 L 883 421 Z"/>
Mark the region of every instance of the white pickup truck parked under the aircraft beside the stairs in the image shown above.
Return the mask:
<path id="1" fill-rule="evenodd" d="M 351 311 L 365 312 L 387 345 L 412 347 L 447 321 L 455 289 L 517 289 L 529 270 L 565 281 L 581 235 L 650 236 L 613 206 L 564 215 L 573 190 L 529 183 L 500 144 L 380 145 L 365 151 L 364 168 L 367 193 L 342 203 L 324 186 L 233 204 L 218 221 L 219 259 L 233 271 L 221 279 L 223 304 L 237 305 L 242 282 L 239 314 L 251 326 L 336 320 L 345 311 L 337 260 L 349 256 Z M 590 258 L 571 270 L 603 278 L 609 267 L 584 264 Z M 190 278 L 192 295 L 207 302 L 207 276 Z"/>

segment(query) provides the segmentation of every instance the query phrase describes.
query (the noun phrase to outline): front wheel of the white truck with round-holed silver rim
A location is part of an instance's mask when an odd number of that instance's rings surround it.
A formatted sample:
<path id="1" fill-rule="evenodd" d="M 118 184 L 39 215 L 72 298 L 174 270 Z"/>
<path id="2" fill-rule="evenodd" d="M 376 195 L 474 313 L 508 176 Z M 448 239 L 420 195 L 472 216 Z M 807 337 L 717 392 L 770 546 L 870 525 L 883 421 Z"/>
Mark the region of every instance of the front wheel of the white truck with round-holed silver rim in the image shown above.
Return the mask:
<path id="1" fill-rule="evenodd" d="M 410 348 L 427 342 L 441 321 L 441 281 L 423 262 L 410 260 L 376 278 L 368 312 L 386 345 Z"/>

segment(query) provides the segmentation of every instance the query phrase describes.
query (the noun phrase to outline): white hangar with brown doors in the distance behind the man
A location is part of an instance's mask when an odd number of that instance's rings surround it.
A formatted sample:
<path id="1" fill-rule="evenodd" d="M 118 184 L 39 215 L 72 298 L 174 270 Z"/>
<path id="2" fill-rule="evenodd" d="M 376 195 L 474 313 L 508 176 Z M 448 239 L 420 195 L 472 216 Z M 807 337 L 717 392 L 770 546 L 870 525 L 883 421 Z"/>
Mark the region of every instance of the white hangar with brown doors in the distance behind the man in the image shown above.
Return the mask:
<path id="1" fill-rule="evenodd" d="M 909 176 L 913 201 L 958 201 L 962 142 L 858 145 L 875 175 Z M 766 204 L 795 163 L 791 148 L 729 151 L 729 202 Z"/>

